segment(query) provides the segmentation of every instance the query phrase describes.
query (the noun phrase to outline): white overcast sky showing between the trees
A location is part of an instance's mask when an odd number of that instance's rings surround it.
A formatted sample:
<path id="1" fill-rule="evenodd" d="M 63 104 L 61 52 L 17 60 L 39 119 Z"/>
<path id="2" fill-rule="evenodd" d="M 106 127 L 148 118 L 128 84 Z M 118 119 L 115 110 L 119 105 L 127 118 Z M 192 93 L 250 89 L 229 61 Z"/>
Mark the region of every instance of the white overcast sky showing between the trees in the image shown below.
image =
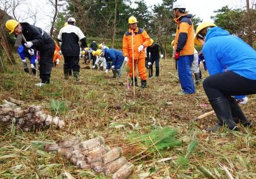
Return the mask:
<path id="1" fill-rule="evenodd" d="M 246 5 L 246 0 L 181 0 L 187 6 L 187 10 L 190 11 L 191 14 L 195 14 L 196 17 L 203 19 L 203 21 L 212 21 L 210 17 L 214 15 L 213 11 L 221 9 L 221 7 L 228 5 L 233 9 L 243 8 Z M 27 4 L 29 7 L 33 7 L 34 11 L 38 11 L 37 17 L 38 21 L 35 24 L 38 27 L 46 30 L 47 32 L 50 30 L 50 22 L 51 22 L 51 6 L 47 3 L 47 0 L 34 1 L 27 0 Z M 157 3 L 161 3 L 161 0 L 145 0 L 147 5 L 154 5 Z M 20 6 L 16 11 L 17 14 L 25 13 L 27 14 L 27 5 Z M 24 15 L 24 14 L 23 14 Z M 33 23 L 32 19 L 26 20 L 29 23 Z"/>

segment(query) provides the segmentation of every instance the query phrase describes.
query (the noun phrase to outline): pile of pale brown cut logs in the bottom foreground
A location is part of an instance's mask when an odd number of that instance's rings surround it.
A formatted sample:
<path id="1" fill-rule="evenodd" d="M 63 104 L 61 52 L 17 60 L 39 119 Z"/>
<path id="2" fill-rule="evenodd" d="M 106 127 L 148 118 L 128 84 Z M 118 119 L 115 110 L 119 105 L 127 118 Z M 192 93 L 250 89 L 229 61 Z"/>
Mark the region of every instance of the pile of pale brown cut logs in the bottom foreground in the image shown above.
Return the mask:
<path id="1" fill-rule="evenodd" d="M 78 139 L 60 140 L 45 145 L 44 149 L 64 154 L 79 169 L 93 169 L 105 176 L 112 174 L 113 179 L 127 178 L 134 170 L 134 165 L 122 156 L 122 149 L 105 146 L 101 136 L 81 142 Z"/>

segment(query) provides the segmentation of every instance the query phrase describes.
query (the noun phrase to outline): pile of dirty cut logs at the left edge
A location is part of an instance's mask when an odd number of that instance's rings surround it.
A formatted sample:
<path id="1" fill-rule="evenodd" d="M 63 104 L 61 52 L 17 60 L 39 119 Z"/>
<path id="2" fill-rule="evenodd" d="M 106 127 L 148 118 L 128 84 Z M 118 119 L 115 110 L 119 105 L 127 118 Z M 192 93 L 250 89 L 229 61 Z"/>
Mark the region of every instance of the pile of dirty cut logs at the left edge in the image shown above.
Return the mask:
<path id="1" fill-rule="evenodd" d="M 65 122 L 59 117 L 53 117 L 43 111 L 41 105 L 31 105 L 22 108 L 24 101 L 15 100 L 8 97 L 2 101 L 0 105 L 0 120 L 3 122 L 11 121 L 15 118 L 15 123 L 22 131 L 30 131 L 31 129 L 41 129 L 49 125 L 57 128 L 64 128 Z"/>

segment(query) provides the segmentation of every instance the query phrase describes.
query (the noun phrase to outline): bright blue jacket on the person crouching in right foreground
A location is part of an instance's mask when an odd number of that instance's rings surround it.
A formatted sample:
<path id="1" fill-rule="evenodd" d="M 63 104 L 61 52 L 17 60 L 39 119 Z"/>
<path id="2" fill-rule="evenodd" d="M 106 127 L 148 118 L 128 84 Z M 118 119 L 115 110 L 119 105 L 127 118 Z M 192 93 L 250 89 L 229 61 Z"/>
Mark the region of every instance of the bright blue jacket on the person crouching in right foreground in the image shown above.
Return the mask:
<path id="1" fill-rule="evenodd" d="M 256 51 L 221 27 L 213 27 L 207 32 L 203 55 L 210 75 L 233 71 L 256 80 Z"/>

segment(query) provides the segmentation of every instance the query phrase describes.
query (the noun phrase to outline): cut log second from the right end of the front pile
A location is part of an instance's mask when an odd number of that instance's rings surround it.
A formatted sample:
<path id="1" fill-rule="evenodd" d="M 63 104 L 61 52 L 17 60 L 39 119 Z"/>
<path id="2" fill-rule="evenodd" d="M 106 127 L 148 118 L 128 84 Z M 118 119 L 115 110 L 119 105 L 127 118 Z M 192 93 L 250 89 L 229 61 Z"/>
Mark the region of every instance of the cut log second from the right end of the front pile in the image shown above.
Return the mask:
<path id="1" fill-rule="evenodd" d="M 117 172 L 117 170 L 121 168 L 121 166 L 123 166 L 126 162 L 127 160 L 125 157 L 119 157 L 117 160 L 114 160 L 104 166 L 103 173 L 105 176 L 109 176 L 110 174 Z"/>

